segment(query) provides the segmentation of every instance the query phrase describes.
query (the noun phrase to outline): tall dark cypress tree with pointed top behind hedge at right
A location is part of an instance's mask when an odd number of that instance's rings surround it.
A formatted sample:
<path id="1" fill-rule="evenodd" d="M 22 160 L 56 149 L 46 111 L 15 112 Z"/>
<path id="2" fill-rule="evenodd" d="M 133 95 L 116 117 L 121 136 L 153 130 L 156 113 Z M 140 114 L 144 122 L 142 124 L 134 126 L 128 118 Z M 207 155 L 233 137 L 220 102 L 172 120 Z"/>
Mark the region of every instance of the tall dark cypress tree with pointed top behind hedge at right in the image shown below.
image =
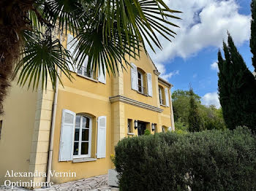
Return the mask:
<path id="1" fill-rule="evenodd" d="M 223 43 L 225 60 L 218 53 L 219 101 L 227 128 L 246 125 L 256 129 L 256 81 L 228 34 Z"/>

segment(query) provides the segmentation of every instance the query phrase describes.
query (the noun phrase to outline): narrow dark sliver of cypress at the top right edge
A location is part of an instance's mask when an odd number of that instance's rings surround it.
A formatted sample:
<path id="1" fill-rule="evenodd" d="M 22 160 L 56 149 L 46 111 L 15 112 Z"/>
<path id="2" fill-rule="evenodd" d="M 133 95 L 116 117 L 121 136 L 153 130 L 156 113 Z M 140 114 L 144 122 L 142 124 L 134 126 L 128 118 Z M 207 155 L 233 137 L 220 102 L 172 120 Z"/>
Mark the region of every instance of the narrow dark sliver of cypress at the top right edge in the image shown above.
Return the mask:
<path id="1" fill-rule="evenodd" d="M 255 67 L 255 72 L 256 72 L 256 0 L 252 0 L 251 11 L 252 11 L 252 21 L 251 21 L 250 47 L 252 52 L 252 66 Z"/>

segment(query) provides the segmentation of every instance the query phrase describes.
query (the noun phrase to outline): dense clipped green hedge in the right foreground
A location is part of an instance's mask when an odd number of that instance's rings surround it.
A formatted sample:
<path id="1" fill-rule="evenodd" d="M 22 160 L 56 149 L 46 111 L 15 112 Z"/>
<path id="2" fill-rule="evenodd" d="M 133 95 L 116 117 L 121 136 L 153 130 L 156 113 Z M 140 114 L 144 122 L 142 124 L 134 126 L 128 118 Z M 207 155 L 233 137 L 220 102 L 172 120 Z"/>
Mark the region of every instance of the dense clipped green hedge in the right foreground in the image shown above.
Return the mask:
<path id="1" fill-rule="evenodd" d="M 126 138 L 120 190 L 256 190 L 256 139 L 246 128 Z"/>

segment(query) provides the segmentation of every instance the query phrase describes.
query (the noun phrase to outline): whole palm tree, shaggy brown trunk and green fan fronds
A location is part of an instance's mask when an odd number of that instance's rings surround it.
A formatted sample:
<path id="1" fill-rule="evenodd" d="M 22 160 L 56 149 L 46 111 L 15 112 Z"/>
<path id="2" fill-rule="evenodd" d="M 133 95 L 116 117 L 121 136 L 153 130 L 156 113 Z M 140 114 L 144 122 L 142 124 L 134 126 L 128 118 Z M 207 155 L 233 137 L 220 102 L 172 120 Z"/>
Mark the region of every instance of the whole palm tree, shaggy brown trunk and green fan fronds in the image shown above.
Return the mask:
<path id="1" fill-rule="evenodd" d="M 53 88 L 57 69 L 70 80 L 69 64 L 89 58 L 89 67 L 116 74 L 129 66 L 125 55 L 138 59 L 148 43 L 162 49 L 157 33 L 170 40 L 179 19 L 162 0 L 1 0 L 0 2 L 0 114 L 10 79 L 29 82 L 33 89 Z M 71 55 L 60 36 L 71 32 L 78 46 Z M 72 59 L 75 57 L 74 59 Z"/>

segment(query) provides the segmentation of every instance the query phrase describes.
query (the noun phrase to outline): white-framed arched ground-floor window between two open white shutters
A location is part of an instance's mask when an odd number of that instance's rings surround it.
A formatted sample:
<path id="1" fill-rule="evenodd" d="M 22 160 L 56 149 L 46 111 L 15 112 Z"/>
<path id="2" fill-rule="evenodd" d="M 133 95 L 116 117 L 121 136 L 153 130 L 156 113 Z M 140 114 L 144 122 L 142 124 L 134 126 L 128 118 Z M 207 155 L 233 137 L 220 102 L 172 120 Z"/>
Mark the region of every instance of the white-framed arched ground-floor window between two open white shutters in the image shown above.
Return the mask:
<path id="1" fill-rule="evenodd" d="M 91 117 L 76 115 L 74 157 L 91 157 Z"/>

